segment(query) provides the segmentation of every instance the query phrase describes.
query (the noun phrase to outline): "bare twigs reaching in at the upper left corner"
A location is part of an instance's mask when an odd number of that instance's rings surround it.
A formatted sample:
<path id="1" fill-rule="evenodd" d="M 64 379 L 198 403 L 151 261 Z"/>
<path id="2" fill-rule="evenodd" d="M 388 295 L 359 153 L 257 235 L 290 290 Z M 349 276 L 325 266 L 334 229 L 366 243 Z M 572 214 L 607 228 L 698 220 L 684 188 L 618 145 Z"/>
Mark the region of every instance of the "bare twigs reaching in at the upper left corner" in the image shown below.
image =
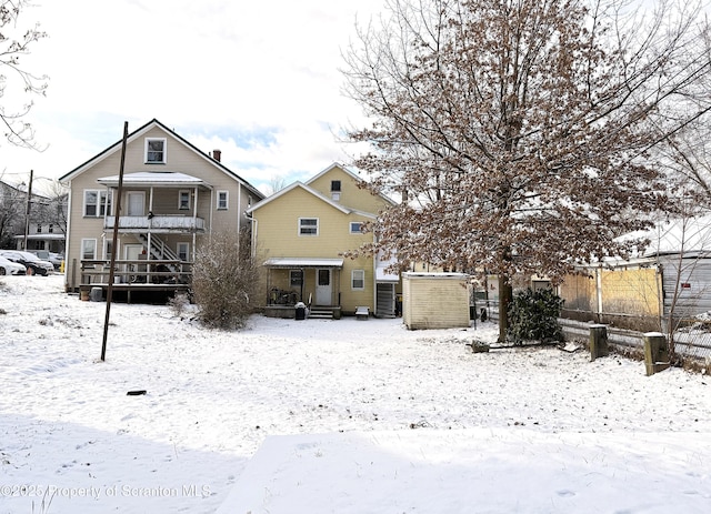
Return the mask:
<path id="1" fill-rule="evenodd" d="M 20 58 L 30 52 L 37 41 L 47 37 L 39 24 L 29 29 L 20 28 L 18 19 L 27 8 L 29 0 L 0 0 L 0 120 L 4 125 L 4 137 L 11 144 L 37 148 L 32 125 L 26 121 L 32 109 L 32 101 L 13 108 L 7 99 L 10 77 L 20 81 L 22 93 L 44 94 L 47 75 L 34 75 L 22 68 Z"/>

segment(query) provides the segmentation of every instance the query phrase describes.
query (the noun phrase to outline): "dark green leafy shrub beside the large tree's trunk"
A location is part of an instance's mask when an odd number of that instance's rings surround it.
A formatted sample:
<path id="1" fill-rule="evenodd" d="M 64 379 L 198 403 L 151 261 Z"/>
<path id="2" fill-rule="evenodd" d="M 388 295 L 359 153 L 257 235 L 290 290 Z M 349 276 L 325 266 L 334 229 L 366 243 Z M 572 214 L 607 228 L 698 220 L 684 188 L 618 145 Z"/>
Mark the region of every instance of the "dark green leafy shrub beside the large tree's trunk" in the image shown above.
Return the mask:
<path id="1" fill-rule="evenodd" d="M 562 341 L 563 331 L 558 323 L 563 300 L 550 289 L 518 293 L 509 305 L 509 336 L 514 343 L 537 340 Z"/>

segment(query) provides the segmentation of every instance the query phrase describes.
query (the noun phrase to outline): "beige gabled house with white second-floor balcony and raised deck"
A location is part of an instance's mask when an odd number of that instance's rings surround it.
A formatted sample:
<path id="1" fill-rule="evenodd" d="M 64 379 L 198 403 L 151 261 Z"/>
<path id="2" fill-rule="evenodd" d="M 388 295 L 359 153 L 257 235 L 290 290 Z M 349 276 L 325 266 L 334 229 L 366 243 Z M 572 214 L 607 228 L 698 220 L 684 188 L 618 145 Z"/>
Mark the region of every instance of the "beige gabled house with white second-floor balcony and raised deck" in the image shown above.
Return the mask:
<path id="1" fill-rule="evenodd" d="M 91 261 L 109 260 L 114 250 L 111 246 L 121 155 L 119 141 L 60 179 L 70 188 L 68 291 L 107 281 L 106 274 L 92 278 L 86 270 L 99 269 L 100 263 Z M 116 259 L 163 261 L 176 271 L 193 261 L 196 248 L 211 232 L 250 228 L 244 211 L 264 195 L 226 168 L 220 158 L 220 151 L 204 153 L 158 120 L 130 133 Z M 140 276 L 129 275 L 127 270 L 117 273 L 117 284 L 128 283 L 129 276 L 131 282 L 147 286 L 162 282 L 160 274 L 136 280 Z"/>

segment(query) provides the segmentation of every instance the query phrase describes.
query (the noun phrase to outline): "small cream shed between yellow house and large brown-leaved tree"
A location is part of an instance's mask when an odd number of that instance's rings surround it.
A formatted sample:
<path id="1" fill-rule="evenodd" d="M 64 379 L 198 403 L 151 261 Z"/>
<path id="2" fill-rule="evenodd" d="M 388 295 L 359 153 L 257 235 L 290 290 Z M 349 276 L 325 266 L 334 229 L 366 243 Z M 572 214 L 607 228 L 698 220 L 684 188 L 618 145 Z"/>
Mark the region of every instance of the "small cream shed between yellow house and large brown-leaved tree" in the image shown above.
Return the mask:
<path id="1" fill-rule="evenodd" d="M 403 273 L 402 321 L 409 330 L 469 327 L 469 275 Z"/>

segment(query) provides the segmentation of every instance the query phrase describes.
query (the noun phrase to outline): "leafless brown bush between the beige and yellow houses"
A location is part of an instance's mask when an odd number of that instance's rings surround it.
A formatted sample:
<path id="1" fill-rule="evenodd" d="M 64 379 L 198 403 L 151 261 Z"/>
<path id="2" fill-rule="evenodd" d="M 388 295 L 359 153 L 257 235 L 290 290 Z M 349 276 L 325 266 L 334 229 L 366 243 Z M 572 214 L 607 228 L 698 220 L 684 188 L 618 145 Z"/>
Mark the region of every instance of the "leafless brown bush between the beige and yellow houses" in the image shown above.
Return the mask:
<path id="1" fill-rule="evenodd" d="M 192 293 L 198 320 L 212 329 L 244 326 L 253 312 L 259 272 L 250 233 L 214 233 L 196 254 Z"/>

